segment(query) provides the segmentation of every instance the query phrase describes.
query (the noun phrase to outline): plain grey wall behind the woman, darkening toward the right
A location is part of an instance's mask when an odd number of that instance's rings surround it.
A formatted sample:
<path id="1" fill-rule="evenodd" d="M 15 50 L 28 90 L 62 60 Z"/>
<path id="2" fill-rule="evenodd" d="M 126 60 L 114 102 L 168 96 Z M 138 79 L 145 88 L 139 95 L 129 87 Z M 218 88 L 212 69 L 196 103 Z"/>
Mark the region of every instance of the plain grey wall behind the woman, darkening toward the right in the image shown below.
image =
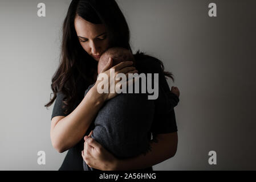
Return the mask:
<path id="1" fill-rule="evenodd" d="M 46 4 L 46 17 L 37 5 Z M 254 1 L 118 0 L 133 51 L 164 62 L 181 92 L 176 155 L 155 170 L 256 169 Z M 208 16 L 210 2 L 217 17 Z M 0 169 L 57 170 L 51 146 L 51 77 L 70 1 L 0 2 Z M 46 165 L 37 152 L 46 152 Z M 217 152 L 217 165 L 208 152 Z"/>

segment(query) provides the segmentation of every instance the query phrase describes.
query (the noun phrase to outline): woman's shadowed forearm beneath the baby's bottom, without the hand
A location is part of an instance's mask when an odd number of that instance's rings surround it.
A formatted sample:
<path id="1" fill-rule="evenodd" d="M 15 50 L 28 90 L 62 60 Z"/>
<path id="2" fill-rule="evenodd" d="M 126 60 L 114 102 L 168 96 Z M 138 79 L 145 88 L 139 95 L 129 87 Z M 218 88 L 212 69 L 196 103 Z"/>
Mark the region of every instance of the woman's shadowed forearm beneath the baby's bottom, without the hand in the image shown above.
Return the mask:
<path id="1" fill-rule="evenodd" d="M 117 160 L 113 164 L 114 170 L 128 171 L 144 169 L 172 158 L 177 150 L 177 133 L 163 134 L 151 140 L 151 151 L 141 154 L 135 158 Z"/>

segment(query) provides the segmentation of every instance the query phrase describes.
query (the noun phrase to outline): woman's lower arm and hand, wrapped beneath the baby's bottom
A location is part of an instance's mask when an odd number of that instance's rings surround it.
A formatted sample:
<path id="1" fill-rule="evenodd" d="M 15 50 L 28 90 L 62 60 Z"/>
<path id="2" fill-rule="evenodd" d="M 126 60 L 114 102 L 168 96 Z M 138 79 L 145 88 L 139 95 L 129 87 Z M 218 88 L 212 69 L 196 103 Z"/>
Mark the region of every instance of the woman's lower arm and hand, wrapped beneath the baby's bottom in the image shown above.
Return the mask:
<path id="1" fill-rule="evenodd" d="M 82 157 L 89 167 L 102 171 L 128 171 L 148 168 L 172 158 L 177 151 L 178 136 L 177 132 L 158 134 L 151 140 L 151 151 L 129 159 L 116 159 L 91 137 L 86 136 L 84 140 Z"/>

